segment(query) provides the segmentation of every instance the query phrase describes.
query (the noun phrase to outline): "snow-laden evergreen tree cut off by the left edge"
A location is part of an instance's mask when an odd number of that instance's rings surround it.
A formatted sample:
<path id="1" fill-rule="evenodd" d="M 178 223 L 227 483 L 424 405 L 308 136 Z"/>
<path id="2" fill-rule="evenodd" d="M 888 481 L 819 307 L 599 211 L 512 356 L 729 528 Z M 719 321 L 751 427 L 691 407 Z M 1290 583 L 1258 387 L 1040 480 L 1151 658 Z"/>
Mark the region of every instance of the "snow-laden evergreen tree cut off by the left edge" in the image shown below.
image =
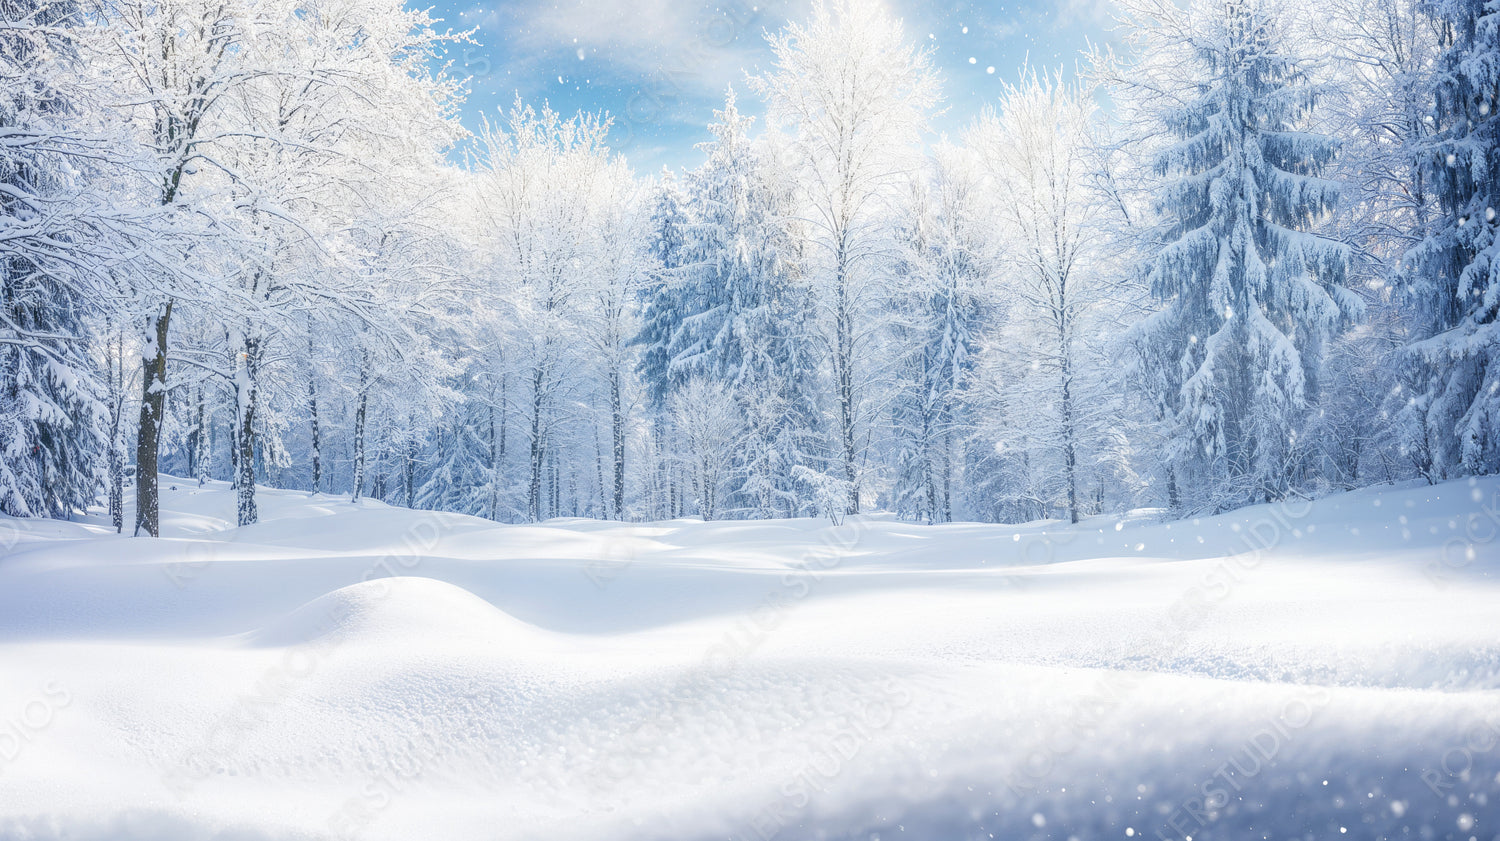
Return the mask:
<path id="1" fill-rule="evenodd" d="M 88 331 L 118 247 L 74 3 L 0 1 L 0 511 L 93 502 L 110 444 Z"/>

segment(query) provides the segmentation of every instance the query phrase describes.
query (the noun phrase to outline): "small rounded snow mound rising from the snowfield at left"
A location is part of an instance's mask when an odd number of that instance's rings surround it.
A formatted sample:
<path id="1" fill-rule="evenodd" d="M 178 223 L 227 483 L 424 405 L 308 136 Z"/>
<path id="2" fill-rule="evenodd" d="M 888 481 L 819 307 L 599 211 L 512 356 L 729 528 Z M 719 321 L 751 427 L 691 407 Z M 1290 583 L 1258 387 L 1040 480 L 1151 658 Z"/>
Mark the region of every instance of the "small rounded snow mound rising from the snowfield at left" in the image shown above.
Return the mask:
<path id="1" fill-rule="evenodd" d="M 396 577 L 350 585 L 321 595 L 255 631 L 256 646 L 398 640 L 504 643 L 538 630 L 470 591 L 436 579 Z"/>

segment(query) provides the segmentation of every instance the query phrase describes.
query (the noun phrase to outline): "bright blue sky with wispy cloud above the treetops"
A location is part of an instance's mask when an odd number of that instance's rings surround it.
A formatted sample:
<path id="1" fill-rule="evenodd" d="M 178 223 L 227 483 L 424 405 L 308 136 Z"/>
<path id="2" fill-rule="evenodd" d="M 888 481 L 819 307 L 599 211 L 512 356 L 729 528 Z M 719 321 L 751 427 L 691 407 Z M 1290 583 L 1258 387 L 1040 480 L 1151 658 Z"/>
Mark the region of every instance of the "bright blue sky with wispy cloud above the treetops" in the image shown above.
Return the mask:
<path id="1" fill-rule="evenodd" d="M 1110 37 L 1108 0 L 885 0 L 908 40 L 933 49 L 944 76 L 946 112 L 936 132 L 957 136 L 1002 81 L 1028 60 L 1071 72 L 1092 39 Z M 458 75 L 471 78 L 464 121 L 478 124 L 519 93 L 555 109 L 608 111 L 612 145 L 640 174 L 693 166 L 693 144 L 723 102 L 740 91 L 741 108 L 762 108 L 746 72 L 770 67 L 764 33 L 807 18 L 810 0 L 442 0 L 440 28 L 476 28 L 477 46 L 453 48 Z"/>

